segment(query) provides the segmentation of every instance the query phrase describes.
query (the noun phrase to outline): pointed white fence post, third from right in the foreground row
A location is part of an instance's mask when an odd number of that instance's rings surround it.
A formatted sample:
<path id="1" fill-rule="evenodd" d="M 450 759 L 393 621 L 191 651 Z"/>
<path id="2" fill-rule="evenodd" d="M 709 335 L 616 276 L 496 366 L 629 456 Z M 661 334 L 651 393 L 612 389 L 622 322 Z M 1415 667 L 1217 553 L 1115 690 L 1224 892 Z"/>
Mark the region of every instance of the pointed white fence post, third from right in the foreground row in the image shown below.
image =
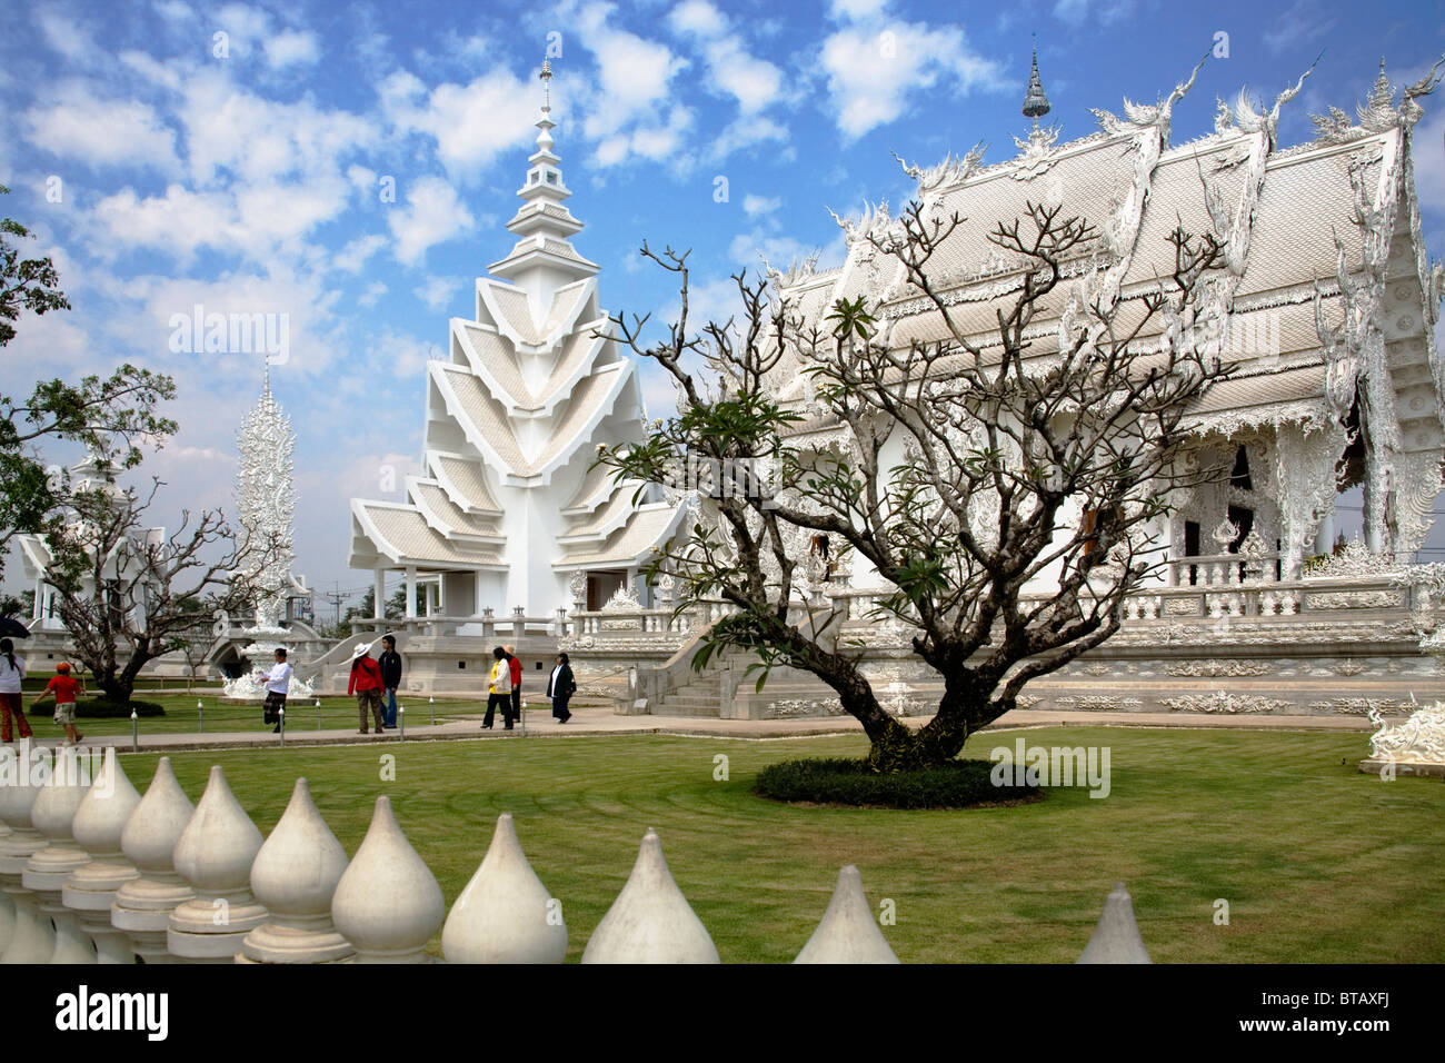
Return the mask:
<path id="1" fill-rule="evenodd" d="M 627 884 L 592 931 L 582 963 L 721 963 L 702 920 L 672 881 L 649 827 Z"/>

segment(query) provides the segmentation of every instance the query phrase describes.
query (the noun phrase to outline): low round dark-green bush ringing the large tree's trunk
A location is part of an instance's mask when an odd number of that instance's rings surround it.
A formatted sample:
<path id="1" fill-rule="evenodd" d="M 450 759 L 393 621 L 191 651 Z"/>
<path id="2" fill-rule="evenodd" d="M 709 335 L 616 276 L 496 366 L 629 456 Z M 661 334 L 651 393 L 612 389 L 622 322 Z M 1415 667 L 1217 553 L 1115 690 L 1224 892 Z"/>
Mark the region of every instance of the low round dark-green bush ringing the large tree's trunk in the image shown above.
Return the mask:
<path id="1" fill-rule="evenodd" d="M 776 801 L 811 801 L 881 808 L 968 808 L 1043 797 L 1039 787 L 994 785 L 991 761 L 949 761 L 936 768 L 876 774 L 866 759 L 808 759 L 770 764 L 754 794 Z"/>

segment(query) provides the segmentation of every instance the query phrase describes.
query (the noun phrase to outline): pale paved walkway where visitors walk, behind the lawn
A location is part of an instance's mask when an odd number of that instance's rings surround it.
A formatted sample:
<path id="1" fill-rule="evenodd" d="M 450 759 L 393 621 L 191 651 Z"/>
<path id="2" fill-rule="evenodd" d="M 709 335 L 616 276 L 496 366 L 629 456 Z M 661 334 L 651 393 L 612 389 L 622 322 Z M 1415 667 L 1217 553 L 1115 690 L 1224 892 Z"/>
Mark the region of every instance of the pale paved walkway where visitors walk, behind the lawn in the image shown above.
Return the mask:
<path id="1" fill-rule="evenodd" d="M 501 742 L 527 738 L 575 738 L 597 735 L 686 735 L 701 738 L 731 739 L 783 739 L 811 735 L 860 733 L 863 727 L 848 716 L 793 720 L 720 720 L 712 717 L 686 716 L 617 716 L 610 709 L 578 709 L 565 725 L 552 719 L 548 712 L 527 713 L 527 730 L 522 727 L 506 732 L 499 722 L 494 730 L 481 730 L 475 719 L 451 720 L 435 726 L 407 726 L 407 742 L 436 742 L 448 739 L 473 739 Z M 932 717 L 918 716 L 905 720 L 910 727 L 920 727 Z M 1314 730 L 1314 732 L 1358 732 L 1373 730 L 1368 720 L 1358 716 L 1214 716 L 1207 713 L 1107 713 L 1107 712 L 1052 712 L 1016 709 L 996 720 L 987 730 L 1017 730 L 1022 727 L 1228 727 L 1238 730 Z M 318 745 L 387 745 L 400 742 L 399 732 L 384 735 L 358 735 L 354 730 L 303 730 L 286 732 L 288 746 Z M 43 739 L 40 745 L 55 745 Z M 87 738 L 81 746 L 95 748 L 114 745 L 121 752 L 130 749 L 129 735 L 97 735 Z M 270 730 L 253 732 L 207 732 L 204 735 L 140 735 L 142 751 L 186 751 L 186 749 L 270 749 L 280 745 L 280 736 Z"/>

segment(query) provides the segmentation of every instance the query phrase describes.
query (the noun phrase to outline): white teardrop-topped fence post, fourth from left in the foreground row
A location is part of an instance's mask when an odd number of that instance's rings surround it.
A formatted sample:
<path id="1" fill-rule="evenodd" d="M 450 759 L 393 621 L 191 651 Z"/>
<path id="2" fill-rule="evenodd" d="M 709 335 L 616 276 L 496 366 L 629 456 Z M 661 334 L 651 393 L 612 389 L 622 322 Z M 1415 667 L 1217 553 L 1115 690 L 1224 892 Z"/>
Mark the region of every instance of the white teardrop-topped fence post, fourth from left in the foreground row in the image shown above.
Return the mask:
<path id="1" fill-rule="evenodd" d="M 168 952 L 171 913 L 195 894 L 175 869 L 175 848 L 195 806 L 181 790 L 171 758 L 162 756 L 146 795 L 126 821 L 120 849 L 140 872 L 116 891 L 110 921 L 124 930 L 146 963 L 175 962 Z"/>

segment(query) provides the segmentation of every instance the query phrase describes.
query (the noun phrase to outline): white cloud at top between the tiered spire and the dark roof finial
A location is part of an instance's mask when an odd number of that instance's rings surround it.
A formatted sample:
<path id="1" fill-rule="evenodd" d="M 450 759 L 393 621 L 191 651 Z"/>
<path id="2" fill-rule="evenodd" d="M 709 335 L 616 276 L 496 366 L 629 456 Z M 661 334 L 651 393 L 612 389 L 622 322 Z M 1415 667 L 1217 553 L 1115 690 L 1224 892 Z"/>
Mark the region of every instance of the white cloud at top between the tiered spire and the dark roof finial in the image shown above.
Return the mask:
<path id="1" fill-rule="evenodd" d="M 893 121 L 915 93 L 939 82 L 951 82 L 954 94 L 1004 84 L 998 64 L 971 51 L 957 26 L 845 26 L 824 40 L 819 59 L 845 140 Z"/>

